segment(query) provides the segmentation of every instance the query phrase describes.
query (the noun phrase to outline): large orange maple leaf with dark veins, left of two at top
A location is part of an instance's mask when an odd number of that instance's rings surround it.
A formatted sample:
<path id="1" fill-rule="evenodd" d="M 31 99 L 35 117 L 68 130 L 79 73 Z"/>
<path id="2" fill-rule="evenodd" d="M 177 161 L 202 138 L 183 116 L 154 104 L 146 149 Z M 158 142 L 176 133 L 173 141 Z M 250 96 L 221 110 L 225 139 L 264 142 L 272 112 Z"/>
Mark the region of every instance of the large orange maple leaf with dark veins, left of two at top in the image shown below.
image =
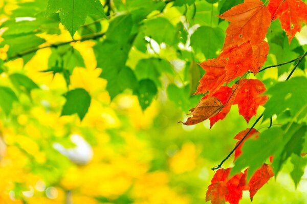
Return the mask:
<path id="1" fill-rule="evenodd" d="M 218 17 L 230 21 L 224 48 L 248 41 L 252 45 L 259 44 L 265 39 L 271 24 L 271 13 L 259 0 L 245 0 Z"/>

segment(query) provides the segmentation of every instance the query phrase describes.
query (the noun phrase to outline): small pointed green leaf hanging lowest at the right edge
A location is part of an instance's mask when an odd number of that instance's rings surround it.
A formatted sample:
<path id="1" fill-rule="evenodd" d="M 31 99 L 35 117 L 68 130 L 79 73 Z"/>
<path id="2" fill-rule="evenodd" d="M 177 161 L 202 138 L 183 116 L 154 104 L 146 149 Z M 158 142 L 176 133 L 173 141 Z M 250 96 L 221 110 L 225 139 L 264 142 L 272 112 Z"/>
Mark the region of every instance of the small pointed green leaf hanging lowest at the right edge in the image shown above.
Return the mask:
<path id="1" fill-rule="evenodd" d="M 291 163 L 293 164 L 293 170 L 291 171 L 290 175 L 295 183 L 295 187 L 297 187 L 301 177 L 304 174 L 305 167 L 307 165 L 307 158 L 293 154 L 291 156 Z"/>

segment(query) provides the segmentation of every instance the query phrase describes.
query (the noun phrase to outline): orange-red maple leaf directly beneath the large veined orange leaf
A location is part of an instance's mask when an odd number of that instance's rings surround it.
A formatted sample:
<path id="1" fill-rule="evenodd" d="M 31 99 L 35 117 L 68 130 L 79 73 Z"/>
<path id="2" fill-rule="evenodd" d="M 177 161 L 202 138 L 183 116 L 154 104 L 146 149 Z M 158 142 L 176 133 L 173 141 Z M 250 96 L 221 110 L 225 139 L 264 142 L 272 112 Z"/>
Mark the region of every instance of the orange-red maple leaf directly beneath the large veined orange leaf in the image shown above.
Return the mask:
<path id="1" fill-rule="evenodd" d="M 241 77 L 248 70 L 251 70 L 254 75 L 257 74 L 267 61 L 268 53 L 269 45 L 266 41 L 261 41 L 257 45 L 245 42 L 242 45 L 224 49 L 219 58 L 228 58 L 228 63 L 225 66 L 226 83 Z"/>

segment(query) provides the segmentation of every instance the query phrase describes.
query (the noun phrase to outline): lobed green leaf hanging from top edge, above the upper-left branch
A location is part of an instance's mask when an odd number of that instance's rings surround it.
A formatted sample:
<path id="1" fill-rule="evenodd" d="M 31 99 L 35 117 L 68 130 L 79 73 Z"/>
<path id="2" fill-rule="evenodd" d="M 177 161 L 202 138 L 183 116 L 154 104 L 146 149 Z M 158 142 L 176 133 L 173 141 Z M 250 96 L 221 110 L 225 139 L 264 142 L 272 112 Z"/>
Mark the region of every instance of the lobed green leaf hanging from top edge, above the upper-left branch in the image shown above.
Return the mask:
<path id="1" fill-rule="evenodd" d="M 85 18 L 89 15 L 105 17 L 103 7 L 98 0 L 49 0 L 46 16 L 50 17 L 53 13 L 58 13 L 61 23 L 70 32 L 72 38 L 83 25 Z"/>

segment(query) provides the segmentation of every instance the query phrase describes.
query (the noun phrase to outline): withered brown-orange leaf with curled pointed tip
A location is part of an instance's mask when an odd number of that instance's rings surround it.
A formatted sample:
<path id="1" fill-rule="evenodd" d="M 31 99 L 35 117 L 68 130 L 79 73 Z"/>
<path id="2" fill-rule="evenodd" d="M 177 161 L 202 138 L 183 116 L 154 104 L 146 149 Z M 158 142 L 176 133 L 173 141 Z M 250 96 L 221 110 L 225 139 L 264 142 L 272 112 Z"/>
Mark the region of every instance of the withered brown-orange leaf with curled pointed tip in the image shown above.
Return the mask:
<path id="1" fill-rule="evenodd" d="M 193 115 L 189 117 L 186 122 L 182 122 L 185 125 L 193 125 L 200 123 L 212 116 L 215 116 L 218 112 L 223 109 L 224 105 L 217 97 L 209 97 L 209 98 L 202 98 L 200 103 L 195 107 L 192 108 L 189 115 Z"/>

